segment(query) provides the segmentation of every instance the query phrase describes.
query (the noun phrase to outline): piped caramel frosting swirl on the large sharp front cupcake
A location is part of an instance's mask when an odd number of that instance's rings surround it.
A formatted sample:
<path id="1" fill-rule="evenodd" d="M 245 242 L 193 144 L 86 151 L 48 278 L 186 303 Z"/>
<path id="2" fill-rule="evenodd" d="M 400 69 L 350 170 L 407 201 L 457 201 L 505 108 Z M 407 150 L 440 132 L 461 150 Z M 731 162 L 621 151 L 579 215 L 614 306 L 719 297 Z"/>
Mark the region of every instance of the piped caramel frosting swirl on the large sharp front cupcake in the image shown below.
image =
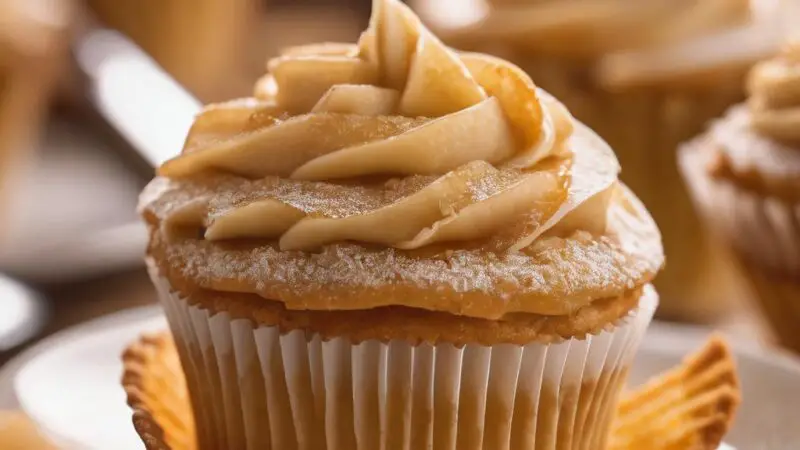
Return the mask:
<path id="1" fill-rule="evenodd" d="M 576 149 L 569 113 L 525 73 L 453 52 L 400 2 L 375 1 L 358 45 L 292 48 L 268 67 L 255 98 L 206 108 L 159 169 L 167 226 L 282 250 L 506 251 L 559 222 L 604 231 L 605 214 L 575 210 L 608 201 L 610 149 Z"/>

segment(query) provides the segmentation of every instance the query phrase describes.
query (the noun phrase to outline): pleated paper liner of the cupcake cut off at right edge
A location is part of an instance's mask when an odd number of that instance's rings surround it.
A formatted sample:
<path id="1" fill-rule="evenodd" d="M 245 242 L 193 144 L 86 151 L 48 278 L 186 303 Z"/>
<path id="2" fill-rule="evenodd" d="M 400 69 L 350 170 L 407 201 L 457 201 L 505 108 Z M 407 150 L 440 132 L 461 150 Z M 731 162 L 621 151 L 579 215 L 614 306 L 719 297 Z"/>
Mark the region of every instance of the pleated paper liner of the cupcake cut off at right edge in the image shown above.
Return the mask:
<path id="1" fill-rule="evenodd" d="M 680 154 L 695 204 L 742 260 L 752 291 L 782 343 L 800 351 L 800 204 L 713 178 L 703 150 L 698 142 Z"/>

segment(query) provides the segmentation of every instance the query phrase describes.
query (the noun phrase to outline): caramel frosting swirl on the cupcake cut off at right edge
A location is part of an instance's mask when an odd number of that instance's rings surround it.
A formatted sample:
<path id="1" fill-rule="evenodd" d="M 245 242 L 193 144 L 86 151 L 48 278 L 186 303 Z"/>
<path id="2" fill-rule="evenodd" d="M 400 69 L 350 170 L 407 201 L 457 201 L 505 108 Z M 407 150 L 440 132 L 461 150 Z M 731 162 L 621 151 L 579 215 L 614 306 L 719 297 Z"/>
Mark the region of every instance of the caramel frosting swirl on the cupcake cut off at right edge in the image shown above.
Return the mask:
<path id="1" fill-rule="evenodd" d="M 758 64 L 749 80 L 750 120 L 765 137 L 800 143 L 800 41 Z"/>

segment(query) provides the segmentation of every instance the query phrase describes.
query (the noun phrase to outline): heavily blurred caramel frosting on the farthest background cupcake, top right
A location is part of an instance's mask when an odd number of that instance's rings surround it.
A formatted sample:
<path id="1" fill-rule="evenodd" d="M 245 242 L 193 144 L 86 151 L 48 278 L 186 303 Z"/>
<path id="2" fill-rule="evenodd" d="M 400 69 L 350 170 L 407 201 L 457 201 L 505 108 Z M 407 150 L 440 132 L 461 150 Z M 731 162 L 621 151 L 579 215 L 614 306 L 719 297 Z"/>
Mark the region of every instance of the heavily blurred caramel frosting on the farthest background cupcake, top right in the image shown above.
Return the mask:
<path id="1" fill-rule="evenodd" d="M 488 0 L 487 3 L 489 7 L 483 17 L 474 24 L 449 30 L 454 38 L 465 42 L 501 39 L 537 52 L 575 56 L 685 42 L 743 24 L 751 16 L 748 0 Z M 454 7 L 441 5 L 437 22 L 443 29 L 449 23 L 446 11 Z"/>

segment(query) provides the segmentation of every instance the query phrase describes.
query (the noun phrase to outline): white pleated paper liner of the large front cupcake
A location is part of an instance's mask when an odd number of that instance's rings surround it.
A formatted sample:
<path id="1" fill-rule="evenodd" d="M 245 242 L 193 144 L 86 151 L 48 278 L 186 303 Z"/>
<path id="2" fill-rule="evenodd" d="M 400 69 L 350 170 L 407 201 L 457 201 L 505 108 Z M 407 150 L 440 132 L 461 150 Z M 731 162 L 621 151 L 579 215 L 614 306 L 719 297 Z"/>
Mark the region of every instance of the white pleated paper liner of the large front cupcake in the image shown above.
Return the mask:
<path id="1" fill-rule="evenodd" d="M 556 344 L 322 340 L 210 314 L 150 267 L 201 449 L 598 449 L 658 303 Z"/>

